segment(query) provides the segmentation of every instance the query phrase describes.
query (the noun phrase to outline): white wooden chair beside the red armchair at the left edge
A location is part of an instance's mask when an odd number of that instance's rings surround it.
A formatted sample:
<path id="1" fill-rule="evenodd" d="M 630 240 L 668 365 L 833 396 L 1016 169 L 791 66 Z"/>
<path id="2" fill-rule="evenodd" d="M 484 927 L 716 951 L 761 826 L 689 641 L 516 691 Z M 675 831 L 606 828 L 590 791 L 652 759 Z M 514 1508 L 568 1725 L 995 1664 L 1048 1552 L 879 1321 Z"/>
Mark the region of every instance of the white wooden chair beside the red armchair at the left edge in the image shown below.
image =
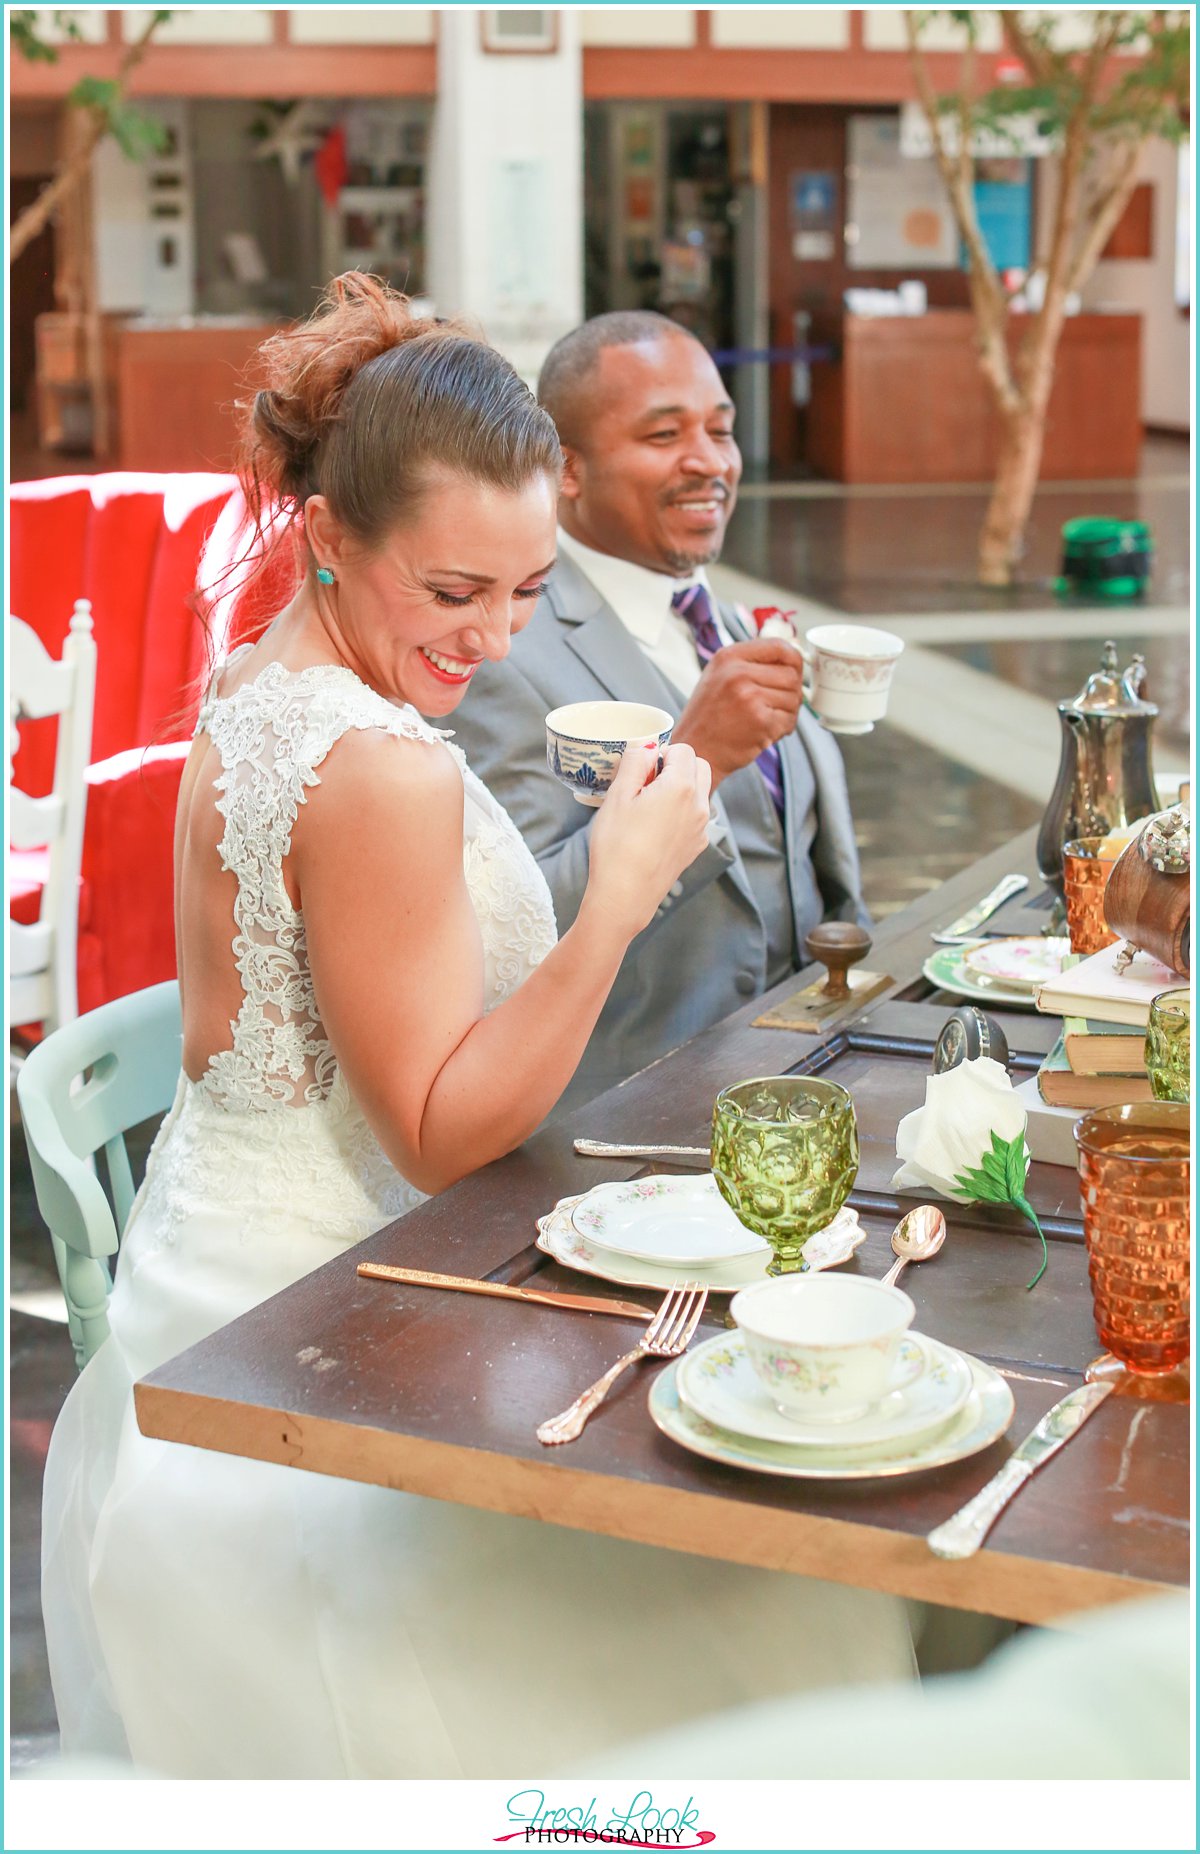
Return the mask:
<path id="1" fill-rule="evenodd" d="M 87 760 L 96 699 L 96 641 L 91 604 L 78 599 L 61 662 L 19 617 L 7 623 L 9 654 L 9 845 L 43 849 L 46 875 L 35 923 L 9 918 L 9 1022 L 41 1023 L 46 1035 L 78 1016 L 76 942 L 80 862 L 87 806 Z M 17 721 L 56 714 L 54 790 L 30 797 L 13 786 Z"/>

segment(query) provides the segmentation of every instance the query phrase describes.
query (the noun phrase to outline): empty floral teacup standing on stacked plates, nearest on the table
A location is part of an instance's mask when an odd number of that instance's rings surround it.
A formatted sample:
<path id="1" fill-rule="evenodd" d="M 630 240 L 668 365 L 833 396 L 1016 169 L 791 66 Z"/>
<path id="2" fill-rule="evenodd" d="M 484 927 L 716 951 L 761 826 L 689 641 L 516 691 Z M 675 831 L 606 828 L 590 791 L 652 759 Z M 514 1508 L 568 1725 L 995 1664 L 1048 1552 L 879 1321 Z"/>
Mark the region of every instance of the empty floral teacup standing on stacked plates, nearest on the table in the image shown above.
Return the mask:
<path id="1" fill-rule="evenodd" d="M 775 1409 L 849 1422 L 887 1396 L 914 1307 L 881 1281 L 801 1274 L 742 1289 L 729 1311 Z"/>

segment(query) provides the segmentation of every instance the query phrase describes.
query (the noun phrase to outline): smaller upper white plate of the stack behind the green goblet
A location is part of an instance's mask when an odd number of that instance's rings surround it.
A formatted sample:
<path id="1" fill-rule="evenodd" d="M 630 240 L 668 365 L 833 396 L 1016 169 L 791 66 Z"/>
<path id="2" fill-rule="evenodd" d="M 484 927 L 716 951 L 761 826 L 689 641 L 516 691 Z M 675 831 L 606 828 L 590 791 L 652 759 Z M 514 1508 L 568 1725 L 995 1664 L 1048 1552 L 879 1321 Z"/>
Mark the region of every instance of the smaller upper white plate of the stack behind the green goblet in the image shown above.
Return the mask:
<path id="1" fill-rule="evenodd" d="M 595 1185 L 571 1211 L 571 1222 L 581 1237 L 614 1255 L 664 1263 L 668 1268 L 723 1263 L 734 1255 L 770 1257 L 762 1237 L 736 1220 L 712 1172 Z"/>

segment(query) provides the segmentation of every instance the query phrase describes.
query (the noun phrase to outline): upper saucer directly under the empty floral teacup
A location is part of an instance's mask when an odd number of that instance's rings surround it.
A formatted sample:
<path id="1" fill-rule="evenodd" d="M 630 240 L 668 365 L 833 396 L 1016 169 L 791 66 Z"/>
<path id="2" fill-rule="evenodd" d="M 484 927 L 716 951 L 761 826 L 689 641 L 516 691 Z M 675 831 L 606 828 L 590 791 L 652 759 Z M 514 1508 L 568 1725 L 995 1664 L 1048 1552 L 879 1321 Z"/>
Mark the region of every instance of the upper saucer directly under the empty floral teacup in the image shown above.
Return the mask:
<path id="1" fill-rule="evenodd" d="M 796 1448 L 872 1448 L 922 1435 L 955 1416 L 970 1396 L 970 1366 L 961 1352 L 924 1333 L 900 1340 L 888 1394 L 849 1422 L 785 1416 L 757 1376 L 740 1333 L 718 1333 L 688 1352 L 677 1372 L 679 1400 L 731 1435 Z"/>

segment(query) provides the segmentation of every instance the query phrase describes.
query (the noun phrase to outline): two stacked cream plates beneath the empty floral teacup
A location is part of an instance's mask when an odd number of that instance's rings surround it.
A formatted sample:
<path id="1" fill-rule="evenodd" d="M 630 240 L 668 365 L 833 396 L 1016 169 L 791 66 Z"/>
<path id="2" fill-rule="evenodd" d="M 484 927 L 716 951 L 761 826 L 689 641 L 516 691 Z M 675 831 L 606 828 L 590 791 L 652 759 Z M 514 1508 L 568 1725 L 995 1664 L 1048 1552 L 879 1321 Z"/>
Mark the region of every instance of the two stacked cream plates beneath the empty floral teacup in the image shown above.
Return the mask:
<path id="1" fill-rule="evenodd" d="M 742 1335 L 718 1333 L 655 1379 L 649 1413 L 710 1461 L 792 1479 L 872 1479 L 987 1448 L 1013 1420 L 1013 1392 L 990 1365 L 909 1333 L 883 1402 L 848 1422 L 803 1422 L 772 1402 Z"/>

